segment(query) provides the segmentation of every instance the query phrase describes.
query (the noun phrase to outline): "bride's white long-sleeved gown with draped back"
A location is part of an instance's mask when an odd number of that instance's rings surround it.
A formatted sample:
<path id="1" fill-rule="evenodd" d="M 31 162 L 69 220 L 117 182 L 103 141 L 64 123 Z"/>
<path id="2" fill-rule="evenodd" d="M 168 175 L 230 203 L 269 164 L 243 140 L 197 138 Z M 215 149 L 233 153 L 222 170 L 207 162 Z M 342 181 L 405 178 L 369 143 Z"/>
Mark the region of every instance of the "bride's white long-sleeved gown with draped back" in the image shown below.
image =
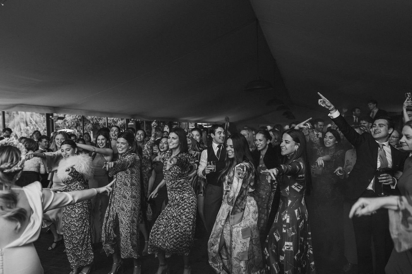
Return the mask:
<path id="1" fill-rule="evenodd" d="M 0 274 L 43 274 L 39 256 L 33 245 L 40 235 L 43 211 L 73 204 L 76 198 L 70 193 L 44 190 L 40 182 L 29 184 L 21 191 L 26 194 L 33 212 L 21 236 L 0 249 Z"/>

